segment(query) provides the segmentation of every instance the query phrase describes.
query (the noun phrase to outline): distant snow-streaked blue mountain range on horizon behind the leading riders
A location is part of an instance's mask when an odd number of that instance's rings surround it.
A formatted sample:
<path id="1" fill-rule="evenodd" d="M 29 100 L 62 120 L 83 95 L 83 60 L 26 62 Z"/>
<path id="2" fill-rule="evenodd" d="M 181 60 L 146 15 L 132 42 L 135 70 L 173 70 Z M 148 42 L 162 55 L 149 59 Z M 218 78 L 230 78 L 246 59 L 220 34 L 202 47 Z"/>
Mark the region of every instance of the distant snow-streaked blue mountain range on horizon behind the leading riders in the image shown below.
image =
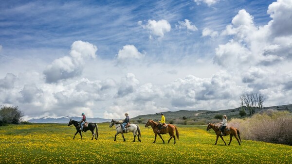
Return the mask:
<path id="1" fill-rule="evenodd" d="M 82 117 L 71 117 L 71 116 L 62 116 L 62 117 L 42 117 L 42 118 L 32 118 L 28 120 L 28 122 L 31 123 L 59 123 L 59 124 L 68 124 L 70 121 L 70 118 L 76 121 L 80 121 Z M 105 118 L 87 118 L 88 122 L 94 122 L 94 123 L 101 123 L 101 122 L 110 122 L 111 119 L 105 119 Z"/>

